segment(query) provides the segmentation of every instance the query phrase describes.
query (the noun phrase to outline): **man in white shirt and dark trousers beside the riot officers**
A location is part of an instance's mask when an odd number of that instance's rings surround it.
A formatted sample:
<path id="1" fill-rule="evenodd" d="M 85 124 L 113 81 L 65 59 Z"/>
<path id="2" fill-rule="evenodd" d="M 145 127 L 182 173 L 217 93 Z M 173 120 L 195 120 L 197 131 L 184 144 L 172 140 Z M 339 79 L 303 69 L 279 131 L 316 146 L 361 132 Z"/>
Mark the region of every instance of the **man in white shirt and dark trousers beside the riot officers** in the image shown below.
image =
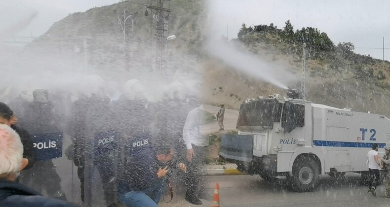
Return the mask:
<path id="1" fill-rule="evenodd" d="M 204 164 L 207 153 L 208 137 L 201 132 L 202 120 L 204 120 L 203 105 L 192 109 L 186 119 L 183 128 L 183 140 L 187 148 L 187 193 L 186 200 L 194 205 L 202 205 L 202 202 L 196 195 L 196 190 L 201 191 L 203 176 L 201 167 Z"/>

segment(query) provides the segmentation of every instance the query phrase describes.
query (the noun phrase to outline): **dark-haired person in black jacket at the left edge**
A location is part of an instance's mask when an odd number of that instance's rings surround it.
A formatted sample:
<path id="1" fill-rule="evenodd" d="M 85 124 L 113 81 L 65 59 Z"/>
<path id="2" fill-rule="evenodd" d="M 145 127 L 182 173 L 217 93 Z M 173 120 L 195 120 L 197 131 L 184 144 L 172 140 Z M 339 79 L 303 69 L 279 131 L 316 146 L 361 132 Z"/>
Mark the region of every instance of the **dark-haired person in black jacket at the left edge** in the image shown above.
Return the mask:
<path id="1" fill-rule="evenodd" d="M 0 102 L 0 124 L 11 127 L 20 136 L 23 143 L 23 157 L 28 160 L 28 165 L 24 168 L 24 170 L 27 170 L 33 167 L 35 162 L 34 145 L 30 134 L 26 130 L 16 126 L 16 121 L 17 119 L 8 105 Z"/>

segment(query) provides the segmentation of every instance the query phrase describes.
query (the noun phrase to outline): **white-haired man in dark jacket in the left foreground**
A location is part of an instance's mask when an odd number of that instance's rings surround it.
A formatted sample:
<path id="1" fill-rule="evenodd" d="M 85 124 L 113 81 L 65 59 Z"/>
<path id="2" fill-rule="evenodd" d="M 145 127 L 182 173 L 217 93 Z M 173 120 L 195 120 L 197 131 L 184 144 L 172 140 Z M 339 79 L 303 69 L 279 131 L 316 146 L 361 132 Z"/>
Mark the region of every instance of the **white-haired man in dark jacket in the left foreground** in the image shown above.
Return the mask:
<path id="1" fill-rule="evenodd" d="M 0 124 L 1 207 L 77 207 L 66 201 L 43 197 L 37 191 L 15 182 L 28 162 L 23 158 L 19 135 L 7 125 Z"/>

